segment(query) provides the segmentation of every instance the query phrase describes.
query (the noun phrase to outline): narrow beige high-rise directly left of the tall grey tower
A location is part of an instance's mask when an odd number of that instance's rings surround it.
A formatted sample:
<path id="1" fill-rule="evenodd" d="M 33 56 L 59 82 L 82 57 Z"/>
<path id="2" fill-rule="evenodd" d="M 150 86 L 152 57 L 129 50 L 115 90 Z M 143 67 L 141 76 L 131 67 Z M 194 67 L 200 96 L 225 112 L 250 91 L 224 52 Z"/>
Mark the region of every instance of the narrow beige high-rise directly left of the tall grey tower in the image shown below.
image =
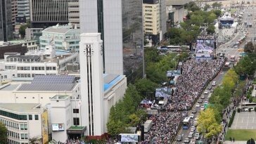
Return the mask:
<path id="1" fill-rule="evenodd" d="M 79 23 L 79 0 L 68 0 L 68 22 L 80 27 Z"/>

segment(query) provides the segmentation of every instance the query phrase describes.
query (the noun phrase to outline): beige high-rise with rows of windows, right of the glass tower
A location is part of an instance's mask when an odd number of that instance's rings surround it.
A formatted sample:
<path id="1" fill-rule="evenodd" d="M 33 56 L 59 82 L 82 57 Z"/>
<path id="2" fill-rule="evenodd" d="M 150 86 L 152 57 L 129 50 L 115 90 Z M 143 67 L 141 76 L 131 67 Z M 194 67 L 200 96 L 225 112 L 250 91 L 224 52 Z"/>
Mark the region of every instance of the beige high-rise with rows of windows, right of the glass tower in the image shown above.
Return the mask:
<path id="1" fill-rule="evenodd" d="M 143 32 L 153 43 L 160 40 L 160 4 L 158 0 L 143 0 Z"/>

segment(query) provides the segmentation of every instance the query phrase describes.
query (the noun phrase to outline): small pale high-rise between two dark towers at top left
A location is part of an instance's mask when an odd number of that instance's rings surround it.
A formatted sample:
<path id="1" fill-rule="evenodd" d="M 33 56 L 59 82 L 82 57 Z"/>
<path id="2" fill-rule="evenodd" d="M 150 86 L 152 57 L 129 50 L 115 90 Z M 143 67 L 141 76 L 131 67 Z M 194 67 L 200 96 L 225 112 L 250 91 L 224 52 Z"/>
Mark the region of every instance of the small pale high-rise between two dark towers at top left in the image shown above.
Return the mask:
<path id="1" fill-rule="evenodd" d="M 18 17 L 24 17 L 30 19 L 30 1 L 18 0 Z"/>

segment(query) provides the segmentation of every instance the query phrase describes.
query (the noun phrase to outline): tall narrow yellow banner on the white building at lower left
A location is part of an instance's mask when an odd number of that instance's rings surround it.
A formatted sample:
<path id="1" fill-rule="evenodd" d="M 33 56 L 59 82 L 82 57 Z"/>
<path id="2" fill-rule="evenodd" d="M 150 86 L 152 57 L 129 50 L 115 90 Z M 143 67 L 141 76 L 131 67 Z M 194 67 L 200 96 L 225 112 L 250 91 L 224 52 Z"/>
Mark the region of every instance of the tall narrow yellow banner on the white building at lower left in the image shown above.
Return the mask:
<path id="1" fill-rule="evenodd" d="M 48 143 L 48 112 L 44 110 L 41 114 L 41 137 L 43 139 L 43 144 Z"/>

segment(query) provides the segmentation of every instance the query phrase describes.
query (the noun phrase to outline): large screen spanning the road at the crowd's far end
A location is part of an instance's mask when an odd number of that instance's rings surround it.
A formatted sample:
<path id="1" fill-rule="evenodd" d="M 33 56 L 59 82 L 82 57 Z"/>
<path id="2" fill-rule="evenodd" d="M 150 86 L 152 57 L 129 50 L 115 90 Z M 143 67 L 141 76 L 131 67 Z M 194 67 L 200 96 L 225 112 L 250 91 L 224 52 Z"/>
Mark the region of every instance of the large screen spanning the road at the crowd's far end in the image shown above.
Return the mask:
<path id="1" fill-rule="evenodd" d="M 212 53 L 215 49 L 214 39 L 196 40 L 196 53 Z"/>

